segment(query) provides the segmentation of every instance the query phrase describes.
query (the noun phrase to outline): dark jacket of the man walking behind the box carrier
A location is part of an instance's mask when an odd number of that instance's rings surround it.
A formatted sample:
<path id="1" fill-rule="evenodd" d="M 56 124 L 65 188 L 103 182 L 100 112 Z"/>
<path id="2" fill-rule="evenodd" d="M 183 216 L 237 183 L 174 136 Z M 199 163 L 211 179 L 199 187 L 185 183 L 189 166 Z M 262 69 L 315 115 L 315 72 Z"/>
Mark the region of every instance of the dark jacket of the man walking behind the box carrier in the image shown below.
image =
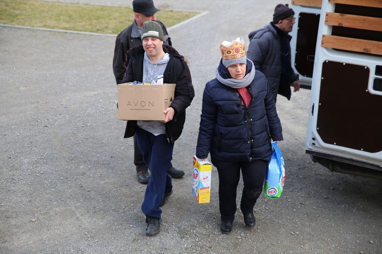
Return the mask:
<path id="1" fill-rule="evenodd" d="M 172 46 L 171 38 L 168 36 L 166 26 L 156 20 L 160 24 L 163 30 L 163 36 L 165 41 L 163 44 Z M 113 72 L 116 78 L 117 85 L 122 83 L 122 79 L 125 76 L 126 68 L 128 65 L 128 51 L 133 47 L 142 45 L 141 36 L 137 34 L 132 34 L 133 24 L 126 27 L 116 38 L 116 46 L 114 48 L 113 57 Z"/>

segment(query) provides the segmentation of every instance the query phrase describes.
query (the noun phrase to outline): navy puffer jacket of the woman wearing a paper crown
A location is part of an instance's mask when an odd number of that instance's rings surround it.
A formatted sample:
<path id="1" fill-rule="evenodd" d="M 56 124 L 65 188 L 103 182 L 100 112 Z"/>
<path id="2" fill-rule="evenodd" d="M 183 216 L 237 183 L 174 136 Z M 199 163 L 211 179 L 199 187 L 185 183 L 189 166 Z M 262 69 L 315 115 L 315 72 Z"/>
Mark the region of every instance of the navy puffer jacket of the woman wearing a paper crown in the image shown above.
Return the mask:
<path id="1" fill-rule="evenodd" d="M 247 73 L 251 68 L 252 63 L 247 60 Z M 219 70 L 223 78 L 230 78 L 222 61 Z M 275 101 L 264 74 L 256 71 L 247 89 L 252 97 L 248 108 L 241 105 L 237 89 L 216 78 L 204 88 L 196 156 L 206 158 L 210 153 L 217 168 L 235 162 L 269 161 L 270 138 L 283 140 Z"/>

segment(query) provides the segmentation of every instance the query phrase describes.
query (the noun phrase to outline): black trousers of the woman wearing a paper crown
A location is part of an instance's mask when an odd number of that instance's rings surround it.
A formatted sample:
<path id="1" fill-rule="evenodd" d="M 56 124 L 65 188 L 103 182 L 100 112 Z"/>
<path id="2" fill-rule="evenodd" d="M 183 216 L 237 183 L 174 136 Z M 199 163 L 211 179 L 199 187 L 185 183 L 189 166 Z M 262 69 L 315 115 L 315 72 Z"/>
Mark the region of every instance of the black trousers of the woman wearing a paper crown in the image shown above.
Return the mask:
<path id="1" fill-rule="evenodd" d="M 227 168 L 217 168 L 217 173 L 219 173 L 219 208 L 222 220 L 233 222 L 235 219 L 236 192 L 240 180 L 240 170 L 244 183 L 240 209 L 243 213 L 253 212 L 263 189 L 267 165 L 267 161 L 257 160 L 237 162 Z"/>

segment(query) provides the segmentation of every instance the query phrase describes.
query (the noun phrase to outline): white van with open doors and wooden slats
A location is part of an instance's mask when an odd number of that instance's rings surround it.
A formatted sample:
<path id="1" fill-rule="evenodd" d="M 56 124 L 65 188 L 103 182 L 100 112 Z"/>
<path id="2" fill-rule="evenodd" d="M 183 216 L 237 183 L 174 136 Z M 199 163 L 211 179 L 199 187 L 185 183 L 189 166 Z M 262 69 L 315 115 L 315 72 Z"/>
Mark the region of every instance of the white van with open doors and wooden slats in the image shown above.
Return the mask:
<path id="1" fill-rule="evenodd" d="M 332 171 L 382 179 L 382 1 L 290 7 L 292 66 L 311 83 L 306 152 Z"/>

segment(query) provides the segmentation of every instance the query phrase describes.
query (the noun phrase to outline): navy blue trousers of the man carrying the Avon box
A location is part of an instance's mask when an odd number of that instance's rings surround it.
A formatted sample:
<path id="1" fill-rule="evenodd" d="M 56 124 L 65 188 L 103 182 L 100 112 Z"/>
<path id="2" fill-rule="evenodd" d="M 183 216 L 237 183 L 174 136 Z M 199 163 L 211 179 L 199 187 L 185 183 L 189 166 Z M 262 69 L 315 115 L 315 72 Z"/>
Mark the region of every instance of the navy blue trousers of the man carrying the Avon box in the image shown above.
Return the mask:
<path id="1" fill-rule="evenodd" d="M 162 210 L 159 205 L 163 202 L 165 193 L 173 188 L 172 179 L 167 171 L 172 160 L 174 143 L 167 141 L 166 134 L 158 136 L 137 128 L 135 132 L 143 160 L 150 169 L 150 180 L 146 187 L 142 212 L 146 216 L 160 218 Z"/>

